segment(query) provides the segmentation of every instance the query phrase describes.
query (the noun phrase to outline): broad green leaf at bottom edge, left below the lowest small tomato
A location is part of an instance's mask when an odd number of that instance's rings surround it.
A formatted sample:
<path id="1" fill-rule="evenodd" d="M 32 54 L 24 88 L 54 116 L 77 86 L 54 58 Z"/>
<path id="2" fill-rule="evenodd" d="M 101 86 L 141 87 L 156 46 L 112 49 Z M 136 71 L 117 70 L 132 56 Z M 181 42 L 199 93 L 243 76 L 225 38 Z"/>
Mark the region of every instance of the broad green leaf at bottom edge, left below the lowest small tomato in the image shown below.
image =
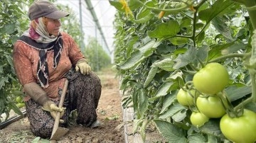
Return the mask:
<path id="1" fill-rule="evenodd" d="M 156 127 L 159 132 L 161 132 L 161 135 L 163 135 L 169 143 L 187 142 L 184 130 L 181 128 L 178 128 L 174 124 L 164 120 L 154 120 L 154 122 L 156 122 Z"/>

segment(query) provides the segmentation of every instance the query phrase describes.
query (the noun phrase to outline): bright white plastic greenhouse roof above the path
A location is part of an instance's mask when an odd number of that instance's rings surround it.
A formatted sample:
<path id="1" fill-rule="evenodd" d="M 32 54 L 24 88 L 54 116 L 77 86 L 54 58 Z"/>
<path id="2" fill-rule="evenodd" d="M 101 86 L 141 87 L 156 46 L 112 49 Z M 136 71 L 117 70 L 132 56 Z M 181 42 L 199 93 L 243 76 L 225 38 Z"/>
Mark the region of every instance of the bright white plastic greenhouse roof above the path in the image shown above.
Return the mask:
<path id="1" fill-rule="evenodd" d="M 85 33 L 85 45 L 87 44 L 89 37 L 97 38 L 97 41 L 102 45 L 103 49 L 112 55 L 114 50 L 113 37 L 115 33 L 113 21 L 116 9 L 114 6 L 110 5 L 108 0 L 57 0 L 55 3 L 68 5 L 73 9 L 78 17 L 78 21 L 80 21 L 80 1 L 82 4 L 82 30 Z M 92 7 L 87 6 L 87 2 L 90 2 Z M 102 33 L 99 28 L 97 28 L 97 24 L 95 23 L 89 8 L 92 8 L 92 10 L 95 11 Z M 105 40 L 102 35 L 104 35 Z"/>

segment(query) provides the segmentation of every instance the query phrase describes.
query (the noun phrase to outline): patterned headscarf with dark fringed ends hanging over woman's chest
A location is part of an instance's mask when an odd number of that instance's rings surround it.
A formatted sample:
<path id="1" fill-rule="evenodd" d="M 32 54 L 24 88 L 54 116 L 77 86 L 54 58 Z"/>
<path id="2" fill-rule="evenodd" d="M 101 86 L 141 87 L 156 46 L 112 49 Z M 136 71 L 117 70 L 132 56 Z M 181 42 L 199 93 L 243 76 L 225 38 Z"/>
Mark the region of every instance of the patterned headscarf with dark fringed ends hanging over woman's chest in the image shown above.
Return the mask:
<path id="1" fill-rule="evenodd" d="M 49 35 L 46 31 L 47 18 L 41 17 L 31 21 L 30 28 L 26 30 L 21 38 L 22 42 L 39 50 L 39 60 L 37 68 L 38 80 L 43 88 L 47 88 L 49 82 L 49 71 L 47 63 L 47 51 L 54 50 L 53 69 L 58 66 L 61 51 L 63 50 L 63 38 L 59 33 L 58 36 Z"/>

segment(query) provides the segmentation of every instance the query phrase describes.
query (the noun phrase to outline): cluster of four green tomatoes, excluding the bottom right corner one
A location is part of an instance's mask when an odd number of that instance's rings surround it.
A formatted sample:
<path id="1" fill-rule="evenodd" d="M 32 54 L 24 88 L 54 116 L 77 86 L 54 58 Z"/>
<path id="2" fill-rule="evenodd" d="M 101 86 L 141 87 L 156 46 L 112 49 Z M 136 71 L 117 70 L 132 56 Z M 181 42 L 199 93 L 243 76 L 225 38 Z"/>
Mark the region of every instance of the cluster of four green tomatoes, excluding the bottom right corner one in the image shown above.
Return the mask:
<path id="1" fill-rule="evenodd" d="M 218 63 L 206 64 L 193 76 L 195 89 L 181 88 L 177 93 L 177 101 L 184 106 L 196 106 L 197 111 L 191 114 L 191 123 L 201 127 L 209 118 L 221 118 L 225 115 L 223 101 L 220 94 L 228 85 L 229 75 L 227 69 Z M 199 93 L 201 95 L 199 96 Z M 224 95 L 225 96 L 225 95 Z"/>

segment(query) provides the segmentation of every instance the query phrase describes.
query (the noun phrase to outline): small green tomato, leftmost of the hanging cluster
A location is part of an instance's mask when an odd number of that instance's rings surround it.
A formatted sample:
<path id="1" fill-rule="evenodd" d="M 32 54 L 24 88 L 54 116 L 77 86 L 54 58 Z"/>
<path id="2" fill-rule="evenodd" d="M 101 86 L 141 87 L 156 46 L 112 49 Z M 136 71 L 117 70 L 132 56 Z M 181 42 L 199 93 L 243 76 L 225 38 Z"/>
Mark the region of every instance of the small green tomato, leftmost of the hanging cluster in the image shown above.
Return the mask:
<path id="1" fill-rule="evenodd" d="M 183 91 L 183 89 L 181 88 L 178 91 L 177 97 L 176 97 L 178 100 L 178 103 L 180 103 L 181 105 L 185 105 L 185 106 L 194 105 L 193 96 L 196 95 L 196 91 L 191 90 L 190 92 L 191 92 L 191 94 L 189 94 L 187 91 Z"/>

